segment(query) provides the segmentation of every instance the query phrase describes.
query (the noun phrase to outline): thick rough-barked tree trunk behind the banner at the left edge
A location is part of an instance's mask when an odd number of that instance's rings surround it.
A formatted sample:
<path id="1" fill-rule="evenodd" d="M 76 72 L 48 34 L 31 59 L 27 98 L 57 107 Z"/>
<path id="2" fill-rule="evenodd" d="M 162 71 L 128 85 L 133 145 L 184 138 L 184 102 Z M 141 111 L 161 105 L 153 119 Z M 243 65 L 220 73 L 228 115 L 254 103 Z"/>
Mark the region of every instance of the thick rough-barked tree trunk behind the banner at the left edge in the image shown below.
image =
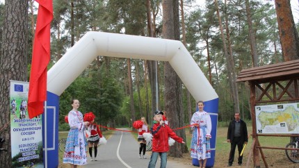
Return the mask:
<path id="1" fill-rule="evenodd" d="M 0 152 L 0 167 L 11 167 L 10 80 L 27 81 L 28 1 L 5 2 L 3 44 L 0 57 L 0 132 L 6 142 Z"/>

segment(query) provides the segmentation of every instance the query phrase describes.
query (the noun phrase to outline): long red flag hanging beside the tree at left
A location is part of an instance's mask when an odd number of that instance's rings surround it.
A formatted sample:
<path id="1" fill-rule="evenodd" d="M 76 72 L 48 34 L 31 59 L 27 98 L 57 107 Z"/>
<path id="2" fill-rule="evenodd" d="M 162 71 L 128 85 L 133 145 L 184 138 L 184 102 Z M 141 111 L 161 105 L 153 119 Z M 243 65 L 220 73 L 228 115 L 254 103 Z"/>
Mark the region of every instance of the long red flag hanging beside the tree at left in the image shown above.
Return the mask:
<path id="1" fill-rule="evenodd" d="M 47 65 L 50 60 L 50 27 L 53 19 L 52 0 L 35 0 L 39 3 L 33 43 L 31 73 L 29 80 L 29 118 L 44 112 L 47 100 Z"/>

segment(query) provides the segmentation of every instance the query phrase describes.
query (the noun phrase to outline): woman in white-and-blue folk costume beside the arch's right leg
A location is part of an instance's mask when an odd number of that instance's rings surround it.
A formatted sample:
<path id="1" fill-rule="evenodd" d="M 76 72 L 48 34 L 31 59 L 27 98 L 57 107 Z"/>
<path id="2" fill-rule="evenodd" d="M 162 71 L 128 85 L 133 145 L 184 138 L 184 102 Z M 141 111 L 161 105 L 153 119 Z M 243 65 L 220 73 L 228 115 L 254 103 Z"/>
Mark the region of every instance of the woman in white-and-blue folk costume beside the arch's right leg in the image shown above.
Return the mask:
<path id="1" fill-rule="evenodd" d="M 191 128 L 193 129 L 191 139 L 191 158 L 196 158 L 200 162 L 200 167 L 206 167 L 207 158 L 211 158 L 210 138 L 211 138 L 211 117 L 204 111 L 204 102 L 198 101 L 198 111 L 191 118 Z"/>

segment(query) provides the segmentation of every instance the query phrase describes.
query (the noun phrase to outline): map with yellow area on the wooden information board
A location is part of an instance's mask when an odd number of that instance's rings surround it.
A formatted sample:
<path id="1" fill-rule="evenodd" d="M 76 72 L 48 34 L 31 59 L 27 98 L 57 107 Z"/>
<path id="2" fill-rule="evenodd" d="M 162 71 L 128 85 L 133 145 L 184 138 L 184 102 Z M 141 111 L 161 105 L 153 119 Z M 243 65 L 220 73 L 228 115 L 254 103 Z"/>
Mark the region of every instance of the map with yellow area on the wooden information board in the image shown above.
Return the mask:
<path id="1" fill-rule="evenodd" d="M 257 133 L 299 133 L 299 103 L 255 106 Z"/>

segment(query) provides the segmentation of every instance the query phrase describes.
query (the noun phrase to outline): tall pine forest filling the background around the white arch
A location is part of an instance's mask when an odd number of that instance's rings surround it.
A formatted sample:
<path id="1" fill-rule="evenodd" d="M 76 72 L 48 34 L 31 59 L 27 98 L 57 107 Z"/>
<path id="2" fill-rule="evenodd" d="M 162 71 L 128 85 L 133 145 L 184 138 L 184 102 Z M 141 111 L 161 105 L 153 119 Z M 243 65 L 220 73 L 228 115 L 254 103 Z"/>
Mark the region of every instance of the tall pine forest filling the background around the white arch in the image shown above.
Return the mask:
<path id="1" fill-rule="evenodd" d="M 9 80 L 29 81 L 38 10 L 33 2 L 0 3 L 1 126 L 10 121 Z M 216 90 L 218 121 L 224 123 L 236 111 L 241 112 L 243 119 L 251 119 L 248 83 L 236 83 L 242 69 L 299 58 L 298 6 L 293 12 L 289 0 L 206 0 L 203 4 L 195 0 L 53 0 L 53 3 L 49 69 L 88 31 L 181 40 Z M 280 11 L 282 7 L 284 12 Z M 289 29 L 282 30 L 284 26 Z M 283 31 L 291 38 L 286 38 Z M 293 44 L 293 50 L 287 49 L 285 42 Z M 61 94 L 60 130 L 68 129 L 64 117 L 70 111 L 72 99 L 79 99 L 81 112 L 94 112 L 97 124 L 112 128 L 131 126 L 143 116 L 151 124 L 157 109 L 167 112 L 172 128 L 179 128 L 190 122 L 196 108 L 195 100 L 168 62 L 105 56 L 97 56 Z M 10 142 L 9 127 L 1 131 Z M 177 133 L 185 136 L 184 129 Z M 184 144 L 170 149 L 170 155 L 175 157 L 186 152 Z M 10 160 L 8 156 L 0 157 L 0 165 L 1 160 Z"/>

